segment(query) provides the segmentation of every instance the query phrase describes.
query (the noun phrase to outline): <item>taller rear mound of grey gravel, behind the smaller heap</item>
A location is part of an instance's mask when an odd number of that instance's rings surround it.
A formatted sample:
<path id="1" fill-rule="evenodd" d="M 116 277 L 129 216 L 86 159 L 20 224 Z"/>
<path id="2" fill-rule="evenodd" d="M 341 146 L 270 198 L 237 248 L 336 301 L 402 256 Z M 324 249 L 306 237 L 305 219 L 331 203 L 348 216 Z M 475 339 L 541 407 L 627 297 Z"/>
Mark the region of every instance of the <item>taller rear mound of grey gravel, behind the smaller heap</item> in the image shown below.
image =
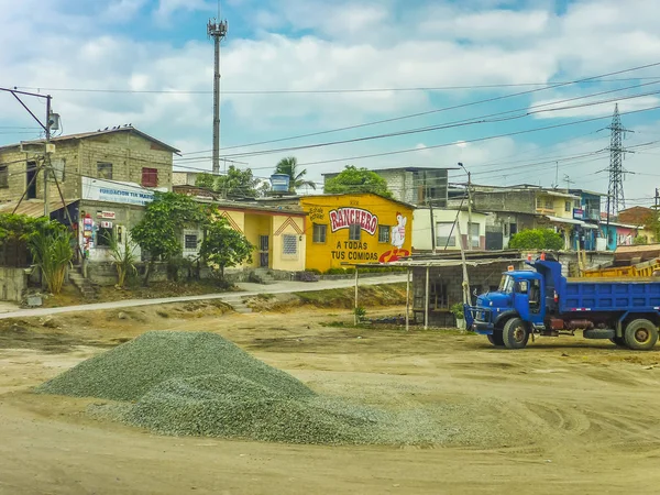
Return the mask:
<path id="1" fill-rule="evenodd" d="M 81 362 L 38 386 L 36 392 L 134 402 L 168 380 L 227 373 L 284 397 L 314 395 L 289 374 L 207 332 L 146 332 Z"/>

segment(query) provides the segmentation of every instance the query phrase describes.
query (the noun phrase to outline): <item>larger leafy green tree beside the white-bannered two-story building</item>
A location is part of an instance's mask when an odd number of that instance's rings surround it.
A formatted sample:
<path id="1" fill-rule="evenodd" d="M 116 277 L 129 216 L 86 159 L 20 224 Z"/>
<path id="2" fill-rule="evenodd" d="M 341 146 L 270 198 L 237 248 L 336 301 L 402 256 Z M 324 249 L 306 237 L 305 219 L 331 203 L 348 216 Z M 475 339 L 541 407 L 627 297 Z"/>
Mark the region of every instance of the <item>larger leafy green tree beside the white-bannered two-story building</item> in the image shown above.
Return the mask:
<path id="1" fill-rule="evenodd" d="M 148 253 L 144 284 L 156 260 L 169 261 L 183 253 L 182 233 L 184 226 L 201 224 L 207 215 L 193 198 L 176 193 L 154 193 L 154 200 L 146 205 L 144 217 L 131 230 L 131 237 L 143 251 Z"/>

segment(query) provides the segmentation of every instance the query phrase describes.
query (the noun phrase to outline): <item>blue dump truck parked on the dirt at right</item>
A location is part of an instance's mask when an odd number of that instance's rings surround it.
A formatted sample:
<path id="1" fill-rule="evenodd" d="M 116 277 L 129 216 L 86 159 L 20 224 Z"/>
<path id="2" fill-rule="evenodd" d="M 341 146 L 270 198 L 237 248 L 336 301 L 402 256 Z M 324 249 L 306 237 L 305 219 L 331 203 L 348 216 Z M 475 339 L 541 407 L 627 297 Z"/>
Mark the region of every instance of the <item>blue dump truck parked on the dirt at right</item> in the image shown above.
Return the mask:
<path id="1" fill-rule="evenodd" d="M 551 255 L 528 261 L 534 270 L 504 273 L 496 292 L 465 305 L 469 328 L 493 345 L 522 349 L 535 336 L 609 339 L 648 351 L 658 341 L 660 277 L 565 278 Z"/>

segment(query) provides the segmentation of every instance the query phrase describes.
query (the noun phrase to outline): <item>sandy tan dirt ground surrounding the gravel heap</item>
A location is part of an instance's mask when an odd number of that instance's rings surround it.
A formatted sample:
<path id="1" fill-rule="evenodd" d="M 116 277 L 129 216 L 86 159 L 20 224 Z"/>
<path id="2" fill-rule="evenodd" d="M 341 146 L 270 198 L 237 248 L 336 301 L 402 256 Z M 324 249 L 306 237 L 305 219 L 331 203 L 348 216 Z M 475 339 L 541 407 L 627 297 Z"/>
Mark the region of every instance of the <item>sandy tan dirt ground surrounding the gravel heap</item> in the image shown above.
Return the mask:
<path id="1" fill-rule="evenodd" d="M 510 352 L 457 332 L 329 327 L 346 311 L 327 309 L 237 315 L 198 302 L 121 317 L 0 328 L 1 494 L 660 493 L 660 348 L 559 338 Z M 416 447 L 158 437 L 91 418 L 98 399 L 30 392 L 154 329 L 218 332 L 318 392 L 446 405 L 442 427 L 457 435 Z"/>

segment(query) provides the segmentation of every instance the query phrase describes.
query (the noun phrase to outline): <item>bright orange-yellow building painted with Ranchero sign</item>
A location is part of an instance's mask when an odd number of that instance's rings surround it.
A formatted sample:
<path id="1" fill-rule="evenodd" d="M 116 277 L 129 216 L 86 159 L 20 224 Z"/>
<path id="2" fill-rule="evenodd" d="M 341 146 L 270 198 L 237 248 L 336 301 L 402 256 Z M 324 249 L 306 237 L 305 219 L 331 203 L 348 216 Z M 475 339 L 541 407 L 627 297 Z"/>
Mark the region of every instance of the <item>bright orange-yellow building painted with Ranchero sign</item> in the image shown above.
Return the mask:
<path id="1" fill-rule="evenodd" d="M 300 196 L 295 201 L 308 216 L 307 270 L 386 263 L 410 254 L 413 207 L 408 204 L 372 194 Z"/>

